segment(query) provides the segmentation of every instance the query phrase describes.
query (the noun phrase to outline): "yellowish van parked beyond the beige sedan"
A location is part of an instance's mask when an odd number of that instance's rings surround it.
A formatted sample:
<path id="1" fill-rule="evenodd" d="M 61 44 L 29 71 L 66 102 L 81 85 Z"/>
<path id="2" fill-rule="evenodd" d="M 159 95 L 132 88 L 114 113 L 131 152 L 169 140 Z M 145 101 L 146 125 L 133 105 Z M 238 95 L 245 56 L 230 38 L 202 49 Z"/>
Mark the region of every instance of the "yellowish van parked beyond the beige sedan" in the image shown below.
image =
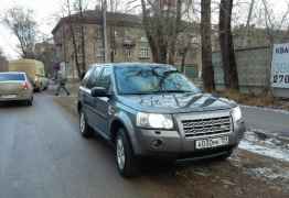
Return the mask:
<path id="1" fill-rule="evenodd" d="M 45 90 L 49 87 L 49 79 L 45 77 L 44 65 L 36 59 L 18 59 L 9 62 L 9 72 L 26 73 L 35 91 Z"/>

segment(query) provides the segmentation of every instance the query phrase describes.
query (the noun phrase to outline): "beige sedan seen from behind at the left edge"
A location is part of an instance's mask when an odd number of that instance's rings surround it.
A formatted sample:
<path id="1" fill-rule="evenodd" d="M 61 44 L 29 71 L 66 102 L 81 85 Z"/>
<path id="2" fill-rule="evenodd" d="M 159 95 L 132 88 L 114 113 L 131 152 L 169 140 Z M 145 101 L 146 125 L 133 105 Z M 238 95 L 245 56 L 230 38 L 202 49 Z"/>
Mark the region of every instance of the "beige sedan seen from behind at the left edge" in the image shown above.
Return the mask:
<path id="1" fill-rule="evenodd" d="M 25 73 L 0 73 L 0 101 L 33 102 L 33 86 Z"/>

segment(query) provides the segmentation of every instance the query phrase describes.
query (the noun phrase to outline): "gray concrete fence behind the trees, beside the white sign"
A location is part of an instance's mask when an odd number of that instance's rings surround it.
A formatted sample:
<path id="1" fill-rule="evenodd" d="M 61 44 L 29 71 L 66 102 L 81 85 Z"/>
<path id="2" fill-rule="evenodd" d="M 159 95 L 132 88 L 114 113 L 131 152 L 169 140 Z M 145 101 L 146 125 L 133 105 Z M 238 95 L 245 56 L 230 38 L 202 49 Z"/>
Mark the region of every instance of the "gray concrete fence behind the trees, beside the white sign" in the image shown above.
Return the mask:
<path id="1" fill-rule="evenodd" d="M 242 92 L 260 94 L 270 88 L 271 50 L 268 46 L 236 50 L 239 87 Z M 213 53 L 213 67 L 217 89 L 224 89 L 221 53 Z M 276 97 L 289 98 L 289 89 L 272 89 Z"/>

